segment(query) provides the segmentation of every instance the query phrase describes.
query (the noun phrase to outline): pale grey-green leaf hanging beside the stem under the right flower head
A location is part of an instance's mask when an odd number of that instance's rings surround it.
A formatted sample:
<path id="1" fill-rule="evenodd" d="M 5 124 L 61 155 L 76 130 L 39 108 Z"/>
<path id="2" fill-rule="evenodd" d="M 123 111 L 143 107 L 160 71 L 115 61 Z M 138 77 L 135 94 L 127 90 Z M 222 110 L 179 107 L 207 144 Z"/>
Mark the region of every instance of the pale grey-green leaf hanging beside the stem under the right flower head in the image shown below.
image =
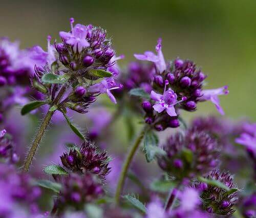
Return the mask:
<path id="1" fill-rule="evenodd" d="M 163 151 L 158 147 L 158 137 L 153 130 L 148 130 L 144 135 L 144 152 L 147 162 L 151 162 L 154 157 Z M 164 152 L 164 151 L 163 151 Z"/>

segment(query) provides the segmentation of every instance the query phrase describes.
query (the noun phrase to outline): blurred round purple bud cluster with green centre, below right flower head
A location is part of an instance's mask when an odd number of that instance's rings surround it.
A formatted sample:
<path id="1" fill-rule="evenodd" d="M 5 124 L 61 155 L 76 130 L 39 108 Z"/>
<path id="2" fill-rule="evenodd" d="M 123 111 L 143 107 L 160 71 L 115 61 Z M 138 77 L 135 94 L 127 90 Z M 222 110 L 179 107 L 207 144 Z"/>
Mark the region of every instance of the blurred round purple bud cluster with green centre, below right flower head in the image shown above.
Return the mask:
<path id="1" fill-rule="evenodd" d="M 158 156 L 158 164 L 178 180 L 204 175 L 218 165 L 217 141 L 196 128 L 171 136 L 163 150 L 166 154 Z"/>

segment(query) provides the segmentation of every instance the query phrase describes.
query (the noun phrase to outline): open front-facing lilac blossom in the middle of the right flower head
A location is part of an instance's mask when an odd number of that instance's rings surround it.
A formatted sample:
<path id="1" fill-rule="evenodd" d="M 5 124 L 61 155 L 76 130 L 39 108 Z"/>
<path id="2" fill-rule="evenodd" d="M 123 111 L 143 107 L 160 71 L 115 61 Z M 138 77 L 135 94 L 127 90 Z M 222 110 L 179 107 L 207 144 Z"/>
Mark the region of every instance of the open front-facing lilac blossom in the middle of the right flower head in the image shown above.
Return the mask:
<path id="1" fill-rule="evenodd" d="M 156 112 L 161 113 L 166 110 L 170 117 L 174 117 L 177 116 L 174 106 L 185 100 L 185 97 L 183 97 L 181 101 L 178 101 L 177 94 L 172 89 L 169 88 L 166 90 L 167 84 L 168 81 L 166 80 L 163 95 L 157 94 L 155 91 L 151 91 L 151 99 L 157 101 L 157 103 L 153 105 L 153 108 Z"/>

